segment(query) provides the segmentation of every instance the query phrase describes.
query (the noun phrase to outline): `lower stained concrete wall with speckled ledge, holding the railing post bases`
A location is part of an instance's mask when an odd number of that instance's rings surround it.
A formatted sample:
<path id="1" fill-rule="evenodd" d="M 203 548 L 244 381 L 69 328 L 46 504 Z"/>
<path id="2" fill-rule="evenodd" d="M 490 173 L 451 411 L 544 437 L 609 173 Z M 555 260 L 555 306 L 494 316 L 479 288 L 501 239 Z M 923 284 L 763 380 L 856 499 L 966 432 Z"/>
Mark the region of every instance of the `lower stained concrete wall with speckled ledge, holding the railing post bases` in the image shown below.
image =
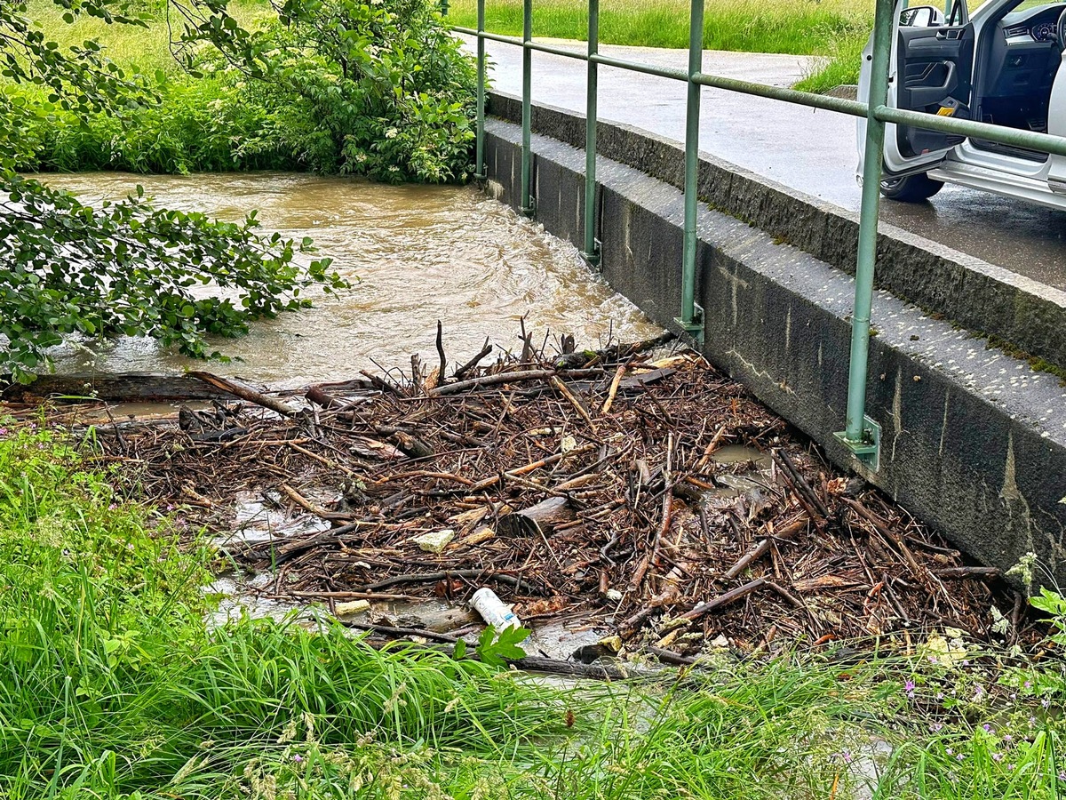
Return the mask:
<path id="1" fill-rule="evenodd" d="M 540 135 L 533 149 L 537 220 L 580 246 L 584 154 Z M 518 127 L 490 119 L 486 151 L 490 187 L 517 206 Z M 603 274 L 672 325 L 681 192 L 607 159 L 599 178 Z M 698 224 L 706 354 L 838 464 L 860 469 L 833 436 L 843 427 L 853 279 L 707 207 Z M 1006 569 L 1034 550 L 1066 579 L 1066 390 L 1057 379 L 887 291 L 876 293 L 873 318 L 868 412 L 884 428 L 884 447 L 879 471 L 867 477 L 981 561 Z"/>

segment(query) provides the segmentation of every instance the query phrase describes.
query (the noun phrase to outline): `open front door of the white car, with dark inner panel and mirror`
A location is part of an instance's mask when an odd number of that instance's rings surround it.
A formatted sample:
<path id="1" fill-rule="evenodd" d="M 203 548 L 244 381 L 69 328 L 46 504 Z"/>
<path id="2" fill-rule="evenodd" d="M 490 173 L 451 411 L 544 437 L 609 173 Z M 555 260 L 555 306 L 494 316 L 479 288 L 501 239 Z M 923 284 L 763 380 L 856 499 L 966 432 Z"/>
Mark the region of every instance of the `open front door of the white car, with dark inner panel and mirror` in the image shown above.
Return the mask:
<path id="1" fill-rule="evenodd" d="M 970 118 L 973 91 L 974 32 L 965 0 L 956 0 L 951 16 L 931 5 L 904 7 L 899 0 L 892 23 L 892 55 L 888 84 L 890 108 Z M 870 97 L 873 35 L 862 51 L 858 97 Z M 866 121 L 859 127 L 861 139 Z M 909 125 L 889 124 L 885 129 L 885 175 L 924 172 L 943 160 L 963 137 L 948 135 Z"/>

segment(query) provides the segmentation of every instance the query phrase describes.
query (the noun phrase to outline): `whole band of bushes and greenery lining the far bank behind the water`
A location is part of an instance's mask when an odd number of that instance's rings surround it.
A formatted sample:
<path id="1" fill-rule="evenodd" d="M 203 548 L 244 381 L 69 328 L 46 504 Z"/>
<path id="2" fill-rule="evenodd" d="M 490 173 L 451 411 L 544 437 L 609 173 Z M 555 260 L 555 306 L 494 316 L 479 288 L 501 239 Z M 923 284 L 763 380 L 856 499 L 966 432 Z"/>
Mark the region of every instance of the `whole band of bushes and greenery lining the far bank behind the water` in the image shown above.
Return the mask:
<path id="1" fill-rule="evenodd" d="M 157 101 L 85 114 L 9 90 L 32 111 L 18 169 L 466 179 L 475 71 L 433 0 L 301 0 L 252 31 L 225 10 L 183 11 L 190 73 L 141 77 Z"/>

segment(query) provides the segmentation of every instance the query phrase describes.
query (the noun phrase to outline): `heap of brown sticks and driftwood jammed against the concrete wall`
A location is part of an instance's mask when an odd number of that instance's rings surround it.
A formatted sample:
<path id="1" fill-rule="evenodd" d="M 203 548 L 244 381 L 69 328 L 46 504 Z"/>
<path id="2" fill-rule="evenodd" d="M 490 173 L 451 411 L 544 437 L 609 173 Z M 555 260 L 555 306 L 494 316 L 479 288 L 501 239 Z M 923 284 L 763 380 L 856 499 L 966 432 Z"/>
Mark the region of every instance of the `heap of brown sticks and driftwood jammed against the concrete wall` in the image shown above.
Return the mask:
<path id="1" fill-rule="evenodd" d="M 242 541 L 263 590 L 329 603 L 467 602 L 490 587 L 523 624 L 597 622 L 668 658 L 957 629 L 986 638 L 1020 596 L 667 337 L 564 342 L 440 380 L 365 372 L 302 401 L 208 373 L 239 403 L 103 426 L 141 491 L 231 529 L 265 494 L 318 529 Z M 1013 610 L 1012 610 L 1013 609 Z M 999 618 L 997 618 L 999 619 Z"/>

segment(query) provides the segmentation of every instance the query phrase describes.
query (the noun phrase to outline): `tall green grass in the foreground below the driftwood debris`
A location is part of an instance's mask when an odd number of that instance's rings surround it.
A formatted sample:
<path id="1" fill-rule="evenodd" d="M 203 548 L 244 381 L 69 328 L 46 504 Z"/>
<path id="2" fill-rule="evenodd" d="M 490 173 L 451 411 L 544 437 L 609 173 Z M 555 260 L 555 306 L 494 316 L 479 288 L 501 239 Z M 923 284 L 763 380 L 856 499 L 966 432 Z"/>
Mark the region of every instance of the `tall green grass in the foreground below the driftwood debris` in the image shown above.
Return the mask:
<path id="1" fill-rule="evenodd" d="M 1066 789 L 1066 725 L 1044 710 L 1066 697 L 1055 660 L 794 655 L 724 660 L 683 685 L 667 673 L 661 685 L 563 688 L 409 645 L 375 650 L 325 622 L 209 631 L 199 587 L 212 554 L 179 543 L 180 516 L 116 496 L 86 461 L 92 444 L 0 420 L 5 799 Z"/>

